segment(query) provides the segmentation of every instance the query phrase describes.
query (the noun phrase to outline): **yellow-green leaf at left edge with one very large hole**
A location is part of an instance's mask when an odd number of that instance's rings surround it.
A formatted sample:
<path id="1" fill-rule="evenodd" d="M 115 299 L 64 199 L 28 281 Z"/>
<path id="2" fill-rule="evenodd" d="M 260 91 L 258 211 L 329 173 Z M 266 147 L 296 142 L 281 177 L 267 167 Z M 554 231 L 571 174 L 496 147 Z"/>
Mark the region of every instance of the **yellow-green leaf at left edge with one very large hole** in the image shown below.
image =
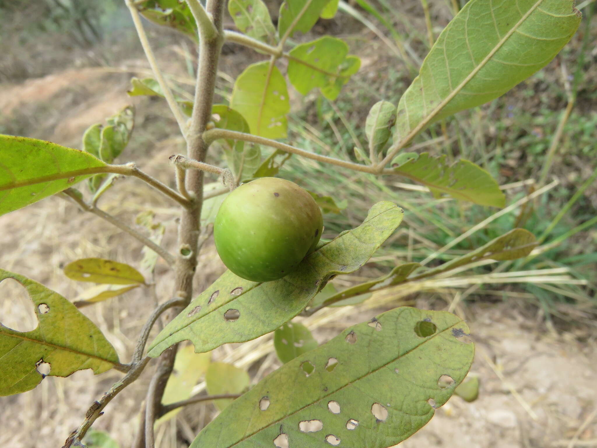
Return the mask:
<path id="1" fill-rule="evenodd" d="M 97 375 L 118 364 L 115 349 L 75 305 L 36 281 L 0 269 L 0 281 L 7 278 L 27 290 L 39 325 L 23 333 L 0 324 L 0 395 L 35 388 L 44 378 L 39 363 L 50 364 L 51 376 L 83 369 Z"/>

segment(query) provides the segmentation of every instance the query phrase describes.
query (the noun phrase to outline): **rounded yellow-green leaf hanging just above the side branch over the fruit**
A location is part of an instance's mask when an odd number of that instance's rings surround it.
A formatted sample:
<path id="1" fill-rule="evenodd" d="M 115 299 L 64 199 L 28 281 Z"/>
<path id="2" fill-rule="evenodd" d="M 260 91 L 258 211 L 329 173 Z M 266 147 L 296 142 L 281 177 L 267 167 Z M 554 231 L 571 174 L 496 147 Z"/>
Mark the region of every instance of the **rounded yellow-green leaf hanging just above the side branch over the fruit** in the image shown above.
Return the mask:
<path id="1" fill-rule="evenodd" d="M 248 66 L 236 78 L 230 107 L 244 116 L 251 133 L 268 139 L 286 137 L 290 100 L 284 76 L 275 65 Z"/>

